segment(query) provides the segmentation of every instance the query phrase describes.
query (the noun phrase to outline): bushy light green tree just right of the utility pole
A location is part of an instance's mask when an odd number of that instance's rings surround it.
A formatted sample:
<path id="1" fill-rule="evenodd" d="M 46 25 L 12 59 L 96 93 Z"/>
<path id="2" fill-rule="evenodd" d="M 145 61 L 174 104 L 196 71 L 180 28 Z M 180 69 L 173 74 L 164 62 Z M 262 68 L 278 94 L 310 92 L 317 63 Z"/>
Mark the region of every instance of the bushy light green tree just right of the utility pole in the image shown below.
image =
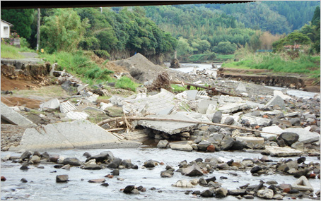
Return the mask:
<path id="1" fill-rule="evenodd" d="M 45 17 L 41 26 L 42 45 L 47 51 L 75 51 L 88 27 L 88 20 L 71 8 L 57 9 L 54 16 Z"/>

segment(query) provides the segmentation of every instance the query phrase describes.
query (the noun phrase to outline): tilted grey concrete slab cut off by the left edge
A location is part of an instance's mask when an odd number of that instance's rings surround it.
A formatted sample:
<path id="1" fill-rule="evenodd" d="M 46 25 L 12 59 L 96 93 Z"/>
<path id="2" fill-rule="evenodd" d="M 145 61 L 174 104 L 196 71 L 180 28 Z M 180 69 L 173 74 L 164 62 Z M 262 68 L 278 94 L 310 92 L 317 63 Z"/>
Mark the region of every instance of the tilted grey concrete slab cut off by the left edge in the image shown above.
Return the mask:
<path id="1" fill-rule="evenodd" d="M 9 123 L 18 125 L 18 126 L 30 126 L 35 125 L 28 118 L 25 118 L 18 112 L 14 111 L 6 104 L 1 102 L 1 118 L 8 121 Z"/>

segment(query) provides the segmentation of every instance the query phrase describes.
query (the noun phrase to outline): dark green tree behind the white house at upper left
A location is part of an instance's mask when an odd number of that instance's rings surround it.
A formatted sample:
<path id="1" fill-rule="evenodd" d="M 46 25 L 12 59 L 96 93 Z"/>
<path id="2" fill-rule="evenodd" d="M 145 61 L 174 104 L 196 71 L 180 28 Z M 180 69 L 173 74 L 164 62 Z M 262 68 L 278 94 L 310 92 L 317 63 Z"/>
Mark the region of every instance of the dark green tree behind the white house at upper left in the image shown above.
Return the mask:
<path id="1" fill-rule="evenodd" d="M 29 39 L 31 35 L 31 24 L 33 23 L 34 9 L 1 9 L 1 19 L 13 24 L 12 30 L 18 35 Z"/>

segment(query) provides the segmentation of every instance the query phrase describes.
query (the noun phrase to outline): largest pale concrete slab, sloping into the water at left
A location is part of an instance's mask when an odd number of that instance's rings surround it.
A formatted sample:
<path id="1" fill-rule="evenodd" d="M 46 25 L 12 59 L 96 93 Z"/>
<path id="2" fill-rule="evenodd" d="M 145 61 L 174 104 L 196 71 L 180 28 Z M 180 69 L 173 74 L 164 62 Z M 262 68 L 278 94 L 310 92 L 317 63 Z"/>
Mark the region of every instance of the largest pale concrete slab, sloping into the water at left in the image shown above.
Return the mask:
<path id="1" fill-rule="evenodd" d="M 120 142 L 112 133 L 90 121 L 72 121 L 52 123 L 38 128 L 27 128 L 18 147 L 10 147 L 10 151 L 48 150 L 48 149 L 94 149 L 138 147 L 139 142 Z"/>

